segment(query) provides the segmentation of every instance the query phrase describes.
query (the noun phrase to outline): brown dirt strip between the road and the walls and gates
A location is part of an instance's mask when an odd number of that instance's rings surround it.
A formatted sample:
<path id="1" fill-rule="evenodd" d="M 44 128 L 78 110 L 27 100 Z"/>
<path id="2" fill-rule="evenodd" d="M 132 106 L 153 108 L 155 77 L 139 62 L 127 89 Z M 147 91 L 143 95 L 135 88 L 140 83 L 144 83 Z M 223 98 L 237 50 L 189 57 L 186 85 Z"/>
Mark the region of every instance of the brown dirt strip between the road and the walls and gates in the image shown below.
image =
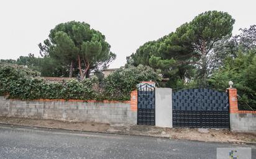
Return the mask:
<path id="1" fill-rule="evenodd" d="M 0 117 L 2 124 L 20 126 L 47 127 L 52 129 L 68 129 L 75 131 L 107 132 L 131 135 L 149 135 L 168 137 L 170 139 L 200 140 L 205 142 L 231 142 L 235 144 L 256 144 L 256 132 L 231 132 L 226 129 L 188 129 L 162 128 L 155 126 L 137 126 L 129 124 L 101 124 L 89 122 L 68 122 L 52 119 L 28 119 Z"/>

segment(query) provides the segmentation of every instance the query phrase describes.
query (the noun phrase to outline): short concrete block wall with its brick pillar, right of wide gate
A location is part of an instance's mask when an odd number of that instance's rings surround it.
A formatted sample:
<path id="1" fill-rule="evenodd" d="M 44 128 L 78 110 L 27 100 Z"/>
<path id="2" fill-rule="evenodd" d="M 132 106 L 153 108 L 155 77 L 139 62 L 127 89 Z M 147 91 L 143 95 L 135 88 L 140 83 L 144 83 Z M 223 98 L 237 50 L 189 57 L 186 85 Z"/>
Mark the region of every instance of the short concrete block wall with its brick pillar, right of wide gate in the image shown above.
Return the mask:
<path id="1" fill-rule="evenodd" d="M 237 90 L 235 88 L 228 88 L 228 92 L 231 131 L 256 132 L 256 111 L 239 110 Z"/>

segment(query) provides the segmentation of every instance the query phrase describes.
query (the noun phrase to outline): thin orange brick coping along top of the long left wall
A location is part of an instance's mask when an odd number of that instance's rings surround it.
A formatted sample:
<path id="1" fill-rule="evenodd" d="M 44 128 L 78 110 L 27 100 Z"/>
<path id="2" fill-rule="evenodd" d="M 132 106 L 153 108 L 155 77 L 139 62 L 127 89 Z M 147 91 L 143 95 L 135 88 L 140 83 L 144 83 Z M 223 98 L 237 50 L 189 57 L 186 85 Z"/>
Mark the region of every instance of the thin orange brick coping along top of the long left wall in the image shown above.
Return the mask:
<path id="1" fill-rule="evenodd" d="M 19 100 L 19 99 L 9 99 Z M 86 102 L 86 103 L 130 103 L 130 101 L 114 101 L 114 100 L 64 100 L 64 99 L 37 99 L 37 100 L 24 100 L 24 101 L 75 101 L 75 102 Z"/>

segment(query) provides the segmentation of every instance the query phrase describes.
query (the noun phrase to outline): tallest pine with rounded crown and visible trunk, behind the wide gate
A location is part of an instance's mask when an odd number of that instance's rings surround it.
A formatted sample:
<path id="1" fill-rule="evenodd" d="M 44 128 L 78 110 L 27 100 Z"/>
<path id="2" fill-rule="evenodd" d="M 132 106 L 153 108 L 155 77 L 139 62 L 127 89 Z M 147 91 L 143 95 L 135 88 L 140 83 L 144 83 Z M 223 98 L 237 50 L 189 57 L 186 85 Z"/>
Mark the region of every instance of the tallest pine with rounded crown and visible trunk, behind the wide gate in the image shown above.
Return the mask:
<path id="1" fill-rule="evenodd" d="M 176 30 L 177 40 L 185 43 L 199 56 L 196 65 L 199 67 L 201 84 L 206 84 L 209 75 L 209 53 L 213 46 L 226 36 L 231 36 L 235 20 L 227 12 L 208 11 L 196 16 L 184 28 Z M 187 45 L 187 44 L 188 45 Z"/>

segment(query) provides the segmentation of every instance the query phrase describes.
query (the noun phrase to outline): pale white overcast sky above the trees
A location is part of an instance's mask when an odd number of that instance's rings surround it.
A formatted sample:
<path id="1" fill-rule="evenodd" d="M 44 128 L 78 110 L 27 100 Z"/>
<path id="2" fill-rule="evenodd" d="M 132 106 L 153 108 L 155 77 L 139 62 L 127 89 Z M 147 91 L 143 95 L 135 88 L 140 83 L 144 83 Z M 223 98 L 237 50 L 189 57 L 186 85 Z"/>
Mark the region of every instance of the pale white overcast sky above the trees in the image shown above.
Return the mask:
<path id="1" fill-rule="evenodd" d="M 239 28 L 256 24 L 255 0 L 6 0 L 0 2 L 0 59 L 17 59 L 34 53 L 55 25 L 84 21 L 106 36 L 117 58 L 110 67 L 123 66 L 126 56 L 140 45 L 175 31 L 204 11 L 225 11 Z"/>

